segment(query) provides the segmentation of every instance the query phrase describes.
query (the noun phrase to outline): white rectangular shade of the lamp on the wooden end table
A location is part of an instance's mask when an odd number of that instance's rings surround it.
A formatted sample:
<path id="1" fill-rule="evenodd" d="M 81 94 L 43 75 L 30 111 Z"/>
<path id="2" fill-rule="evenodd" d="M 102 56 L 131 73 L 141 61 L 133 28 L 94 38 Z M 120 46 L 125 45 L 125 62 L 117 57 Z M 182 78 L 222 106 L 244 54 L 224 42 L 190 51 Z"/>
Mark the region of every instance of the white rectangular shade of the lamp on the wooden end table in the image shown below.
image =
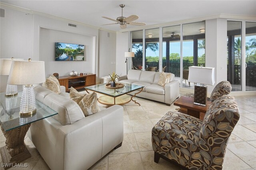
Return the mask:
<path id="1" fill-rule="evenodd" d="M 188 82 L 213 85 L 214 81 L 214 68 L 213 67 L 188 67 Z"/>

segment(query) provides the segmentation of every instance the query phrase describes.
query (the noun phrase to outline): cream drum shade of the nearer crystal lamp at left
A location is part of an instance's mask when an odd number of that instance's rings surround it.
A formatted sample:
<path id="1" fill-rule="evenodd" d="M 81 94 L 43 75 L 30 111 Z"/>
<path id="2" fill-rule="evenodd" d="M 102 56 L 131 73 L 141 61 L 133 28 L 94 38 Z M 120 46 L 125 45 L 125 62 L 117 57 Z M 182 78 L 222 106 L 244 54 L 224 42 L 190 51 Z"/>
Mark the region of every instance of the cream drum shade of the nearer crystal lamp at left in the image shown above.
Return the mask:
<path id="1" fill-rule="evenodd" d="M 44 61 L 12 61 L 8 84 L 38 84 L 44 81 Z"/>

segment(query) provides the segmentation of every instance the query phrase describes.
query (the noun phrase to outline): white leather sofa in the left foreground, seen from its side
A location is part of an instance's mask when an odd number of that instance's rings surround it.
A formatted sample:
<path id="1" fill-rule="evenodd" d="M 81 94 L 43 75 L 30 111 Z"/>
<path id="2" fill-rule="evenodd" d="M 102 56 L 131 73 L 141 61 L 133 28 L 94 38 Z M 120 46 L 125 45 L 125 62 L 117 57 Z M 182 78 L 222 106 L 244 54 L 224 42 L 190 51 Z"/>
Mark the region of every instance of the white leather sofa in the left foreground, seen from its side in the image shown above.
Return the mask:
<path id="1" fill-rule="evenodd" d="M 36 99 L 58 115 L 31 123 L 28 137 L 52 170 L 85 170 L 123 141 L 123 107 L 84 117 L 69 94 L 34 87 Z M 63 90 L 62 90 L 63 91 Z"/>

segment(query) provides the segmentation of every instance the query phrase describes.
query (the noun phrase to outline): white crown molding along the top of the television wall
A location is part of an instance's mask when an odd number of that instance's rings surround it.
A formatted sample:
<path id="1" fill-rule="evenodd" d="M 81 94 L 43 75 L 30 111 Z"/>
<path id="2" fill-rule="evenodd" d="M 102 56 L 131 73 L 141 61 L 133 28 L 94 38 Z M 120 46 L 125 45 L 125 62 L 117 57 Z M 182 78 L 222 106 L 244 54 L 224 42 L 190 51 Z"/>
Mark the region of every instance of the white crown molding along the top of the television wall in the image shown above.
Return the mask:
<path id="1" fill-rule="evenodd" d="M 2 2 L 0 2 L 0 7 L 6 7 L 6 8 L 9 8 L 9 9 L 12 9 L 12 10 L 25 12 L 25 13 L 28 13 L 28 14 L 35 14 L 35 15 L 44 16 L 44 17 L 47 17 L 47 18 L 52 18 L 52 19 L 56 19 L 56 20 L 60 20 L 60 21 L 68 22 L 68 23 L 83 25 L 83 26 L 86 26 L 86 27 L 94 28 L 94 29 L 100 29 L 102 31 L 116 33 L 116 31 L 113 31 L 113 30 L 110 30 L 110 29 L 104 29 L 104 28 L 97 27 L 97 26 L 94 26 L 94 25 L 89 25 L 89 24 L 86 24 L 86 23 L 82 23 L 82 22 L 79 22 L 79 21 L 69 20 L 69 19 L 66 19 L 66 18 L 61 18 L 61 17 L 50 15 L 50 14 L 46 14 L 46 13 L 43 13 L 43 12 L 38 12 L 38 11 L 22 8 L 22 7 L 19 7 L 19 6 L 5 4 L 5 3 L 2 3 Z"/>

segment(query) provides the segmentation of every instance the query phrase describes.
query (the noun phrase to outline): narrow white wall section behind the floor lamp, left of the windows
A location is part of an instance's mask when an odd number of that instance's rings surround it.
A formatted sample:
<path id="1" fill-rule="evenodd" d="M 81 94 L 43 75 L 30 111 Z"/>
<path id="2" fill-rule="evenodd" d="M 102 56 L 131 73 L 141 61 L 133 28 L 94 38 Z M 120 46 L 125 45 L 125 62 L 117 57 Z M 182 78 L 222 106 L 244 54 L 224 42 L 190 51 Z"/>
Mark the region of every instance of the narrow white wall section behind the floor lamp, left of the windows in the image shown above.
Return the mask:
<path id="1" fill-rule="evenodd" d="M 129 32 L 116 33 L 116 73 L 118 75 L 126 74 L 124 52 L 129 50 L 129 35 Z"/>

